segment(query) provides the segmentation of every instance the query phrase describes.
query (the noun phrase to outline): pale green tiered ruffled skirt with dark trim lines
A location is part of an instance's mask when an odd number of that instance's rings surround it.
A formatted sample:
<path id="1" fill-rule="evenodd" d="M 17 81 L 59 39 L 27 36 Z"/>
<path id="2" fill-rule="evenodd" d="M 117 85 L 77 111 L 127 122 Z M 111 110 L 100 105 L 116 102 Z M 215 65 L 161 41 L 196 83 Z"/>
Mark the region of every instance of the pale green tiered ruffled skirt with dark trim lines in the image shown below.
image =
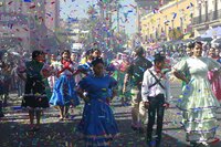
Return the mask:
<path id="1" fill-rule="evenodd" d="M 187 140 L 208 141 L 214 138 L 218 128 L 215 111 L 220 105 L 207 80 L 194 78 L 186 85 L 177 106 L 182 111 Z"/>

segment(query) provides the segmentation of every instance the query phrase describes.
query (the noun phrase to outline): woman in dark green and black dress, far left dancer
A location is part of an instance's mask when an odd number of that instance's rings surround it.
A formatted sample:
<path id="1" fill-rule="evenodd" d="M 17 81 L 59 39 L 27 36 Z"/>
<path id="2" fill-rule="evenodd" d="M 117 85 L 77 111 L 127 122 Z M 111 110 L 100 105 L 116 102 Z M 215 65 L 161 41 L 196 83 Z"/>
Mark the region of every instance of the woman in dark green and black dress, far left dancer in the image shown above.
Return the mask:
<path id="1" fill-rule="evenodd" d="M 40 129 L 42 111 L 49 107 L 44 78 L 52 73 L 46 69 L 44 60 L 43 51 L 35 50 L 32 52 L 32 60 L 18 67 L 18 75 L 25 82 L 22 107 L 29 111 L 31 132 Z M 34 124 L 34 116 L 36 124 Z"/>

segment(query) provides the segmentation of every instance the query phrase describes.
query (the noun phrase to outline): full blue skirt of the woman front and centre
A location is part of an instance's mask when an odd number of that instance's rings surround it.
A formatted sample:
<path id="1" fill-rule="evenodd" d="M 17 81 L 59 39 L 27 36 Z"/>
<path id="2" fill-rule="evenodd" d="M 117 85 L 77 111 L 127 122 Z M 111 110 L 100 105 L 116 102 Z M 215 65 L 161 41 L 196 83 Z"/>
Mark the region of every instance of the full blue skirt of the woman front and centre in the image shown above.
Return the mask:
<path id="1" fill-rule="evenodd" d="M 84 135 L 86 146 L 106 147 L 119 130 L 108 104 L 91 99 L 84 106 L 77 130 Z"/>

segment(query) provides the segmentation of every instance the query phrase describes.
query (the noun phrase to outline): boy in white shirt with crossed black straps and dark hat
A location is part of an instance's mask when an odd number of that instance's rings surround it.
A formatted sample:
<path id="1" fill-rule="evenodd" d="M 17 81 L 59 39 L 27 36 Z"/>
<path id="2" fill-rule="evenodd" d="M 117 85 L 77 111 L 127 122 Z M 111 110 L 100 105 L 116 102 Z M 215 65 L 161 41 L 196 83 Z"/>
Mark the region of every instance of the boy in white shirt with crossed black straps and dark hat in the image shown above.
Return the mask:
<path id="1" fill-rule="evenodd" d="M 148 125 L 147 125 L 147 144 L 151 146 L 152 141 L 152 127 L 157 114 L 157 138 L 156 146 L 160 146 L 161 130 L 164 122 L 165 107 L 169 104 L 167 99 L 170 97 L 170 85 L 167 73 L 162 72 L 165 65 L 165 55 L 155 54 L 155 65 L 147 70 L 144 74 L 141 86 L 141 98 L 145 107 L 148 109 Z"/>

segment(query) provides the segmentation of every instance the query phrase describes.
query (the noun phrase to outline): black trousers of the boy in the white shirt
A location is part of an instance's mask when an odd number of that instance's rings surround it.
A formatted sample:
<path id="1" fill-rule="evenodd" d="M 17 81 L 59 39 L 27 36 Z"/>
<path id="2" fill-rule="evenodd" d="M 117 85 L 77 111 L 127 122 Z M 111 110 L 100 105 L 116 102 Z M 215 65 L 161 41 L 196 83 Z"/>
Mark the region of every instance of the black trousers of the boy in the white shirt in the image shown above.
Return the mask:
<path id="1" fill-rule="evenodd" d="M 162 122 L 165 107 L 165 95 L 159 94 L 155 97 L 148 97 L 149 108 L 148 108 L 148 124 L 147 124 L 147 141 L 150 143 L 152 139 L 152 127 L 155 125 L 155 118 L 157 114 L 157 138 L 156 143 L 159 144 L 161 140 L 161 132 L 162 132 Z"/>

